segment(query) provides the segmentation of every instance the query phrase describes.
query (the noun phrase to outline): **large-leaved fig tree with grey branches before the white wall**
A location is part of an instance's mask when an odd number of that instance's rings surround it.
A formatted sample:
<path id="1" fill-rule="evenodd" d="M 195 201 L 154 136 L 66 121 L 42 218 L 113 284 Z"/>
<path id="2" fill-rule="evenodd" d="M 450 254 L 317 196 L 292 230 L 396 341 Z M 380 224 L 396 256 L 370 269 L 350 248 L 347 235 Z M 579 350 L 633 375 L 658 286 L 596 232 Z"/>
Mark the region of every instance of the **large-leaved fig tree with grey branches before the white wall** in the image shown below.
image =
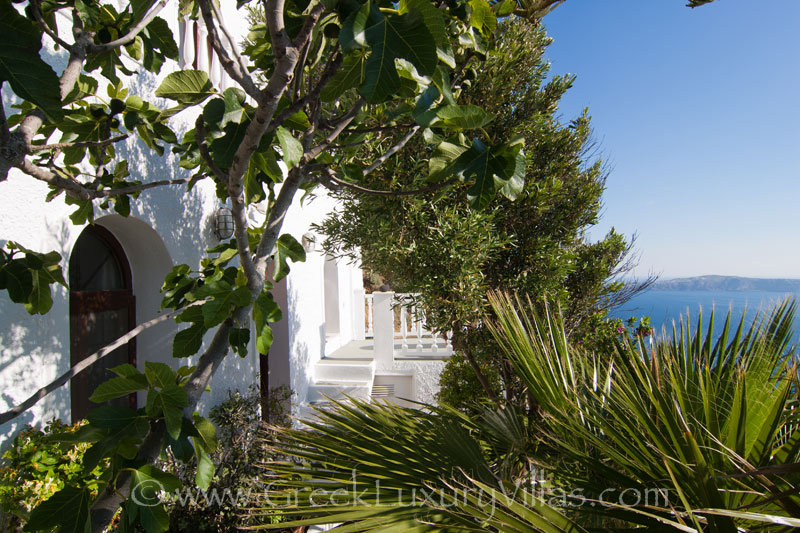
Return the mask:
<path id="1" fill-rule="evenodd" d="M 454 87 L 491 53 L 498 17 L 536 21 L 564 0 L 239 0 L 240 9 L 260 10 L 257 18 L 264 21 L 252 28 L 241 52 L 213 0 L 180 0 L 182 14 L 203 19 L 236 87 L 220 93 L 204 72 L 182 70 L 167 75 L 154 95 L 134 94 L 126 83 L 135 70 L 158 73 L 177 58 L 175 38 L 159 16 L 170 1 L 131 0 L 121 7 L 94 0 L 0 3 L 0 83 L 21 100 L 0 107 L 0 181 L 16 169 L 46 183 L 48 200 L 73 205 L 70 218 L 83 225 L 98 207 L 127 215 L 131 202 L 147 201 L 149 189 L 213 180 L 219 197 L 230 198 L 235 222 L 233 238 L 208 250 L 199 271 L 178 265 L 167 276 L 162 305 L 170 311 L 115 343 L 174 319 L 187 327 L 175 336 L 173 355 L 200 352 L 195 366 L 176 372 L 145 362 L 144 373 L 130 365 L 115 368 L 117 377 L 100 385 L 92 400 L 145 391 L 147 403 L 136 411 L 99 407 L 74 437 L 93 443 L 85 461 L 110 459 L 104 489 L 95 495 L 86 487 L 64 487 L 33 511 L 31 530 L 99 531 L 120 507 L 124 530 L 164 530 L 164 507 L 130 496 L 148 484 L 179 487 L 153 465 L 166 450 L 182 460 L 194 456 L 197 484 L 208 486 L 216 437 L 195 408 L 226 354 L 245 355 L 252 341 L 262 354 L 269 349 L 269 323 L 280 319 L 271 282 L 286 275 L 289 260 L 304 258 L 299 243 L 281 235 L 299 192 L 319 186 L 364 194 L 390 190 L 376 176 L 385 176 L 382 166 L 413 141 L 437 154 L 439 166 L 401 194 L 462 186 L 471 191 L 473 208 L 496 193 L 516 197 L 525 176 L 524 143 L 489 135 L 484 126 L 492 114 L 465 103 Z M 65 19 L 70 28 L 63 27 Z M 41 59 L 43 40 L 65 54 L 60 72 Z M 154 96 L 171 106 L 160 108 Z M 196 120 L 179 137 L 172 118 L 181 113 Z M 178 154 L 192 175 L 166 181 L 132 176 L 115 150 L 129 137 L 154 154 Z M 247 206 L 261 201 L 267 219 L 248 227 Z M 65 285 L 61 262 L 55 252 L 6 243 L 0 289 L 31 314 L 45 313 L 51 286 Z M 248 329 L 251 319 L 255 331 Z M 30 408 L 113 346 L 0 421 Z"/>

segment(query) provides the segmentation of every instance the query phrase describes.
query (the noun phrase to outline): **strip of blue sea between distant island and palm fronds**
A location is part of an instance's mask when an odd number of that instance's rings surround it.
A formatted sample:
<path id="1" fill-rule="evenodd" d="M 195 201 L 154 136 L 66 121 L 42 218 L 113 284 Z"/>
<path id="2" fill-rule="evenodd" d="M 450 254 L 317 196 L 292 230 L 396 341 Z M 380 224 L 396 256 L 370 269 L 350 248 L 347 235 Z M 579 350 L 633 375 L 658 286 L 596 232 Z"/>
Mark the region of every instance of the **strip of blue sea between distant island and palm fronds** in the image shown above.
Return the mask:
<path id="1" fill-rule="evenodd" d="M 631 316 L 649 316 L 650 323 L 660 336 L 662 327 L 666 327 L 667 332 L 671 332 L 673 321 L 678 324 L 681 315 L 684 320 L 687 315 L 689 316 L 692 331 L 695 331 L 701 309 L 703 311 L 703 329 L 705 330 L 709 313 L 713 308 L 716 315 L 714 329 L 715 333 L 719 334 L 722 331 L 728 309 L 731 310 L 733 320 L 737 325 L 742 314 L 746 313 L 745 324 L 749 325 L 757 311 L 768 310 L 777 302 L 792 297 L 798 298 L 800 301 L 800 294 L 791 292 L 648 290 L 612 310 L 611 316 L 623 320 Z M 796 320 L 793 343 L 796 344 L 798 341 L 800 341 L 800 335 L 798 335 Z"/>

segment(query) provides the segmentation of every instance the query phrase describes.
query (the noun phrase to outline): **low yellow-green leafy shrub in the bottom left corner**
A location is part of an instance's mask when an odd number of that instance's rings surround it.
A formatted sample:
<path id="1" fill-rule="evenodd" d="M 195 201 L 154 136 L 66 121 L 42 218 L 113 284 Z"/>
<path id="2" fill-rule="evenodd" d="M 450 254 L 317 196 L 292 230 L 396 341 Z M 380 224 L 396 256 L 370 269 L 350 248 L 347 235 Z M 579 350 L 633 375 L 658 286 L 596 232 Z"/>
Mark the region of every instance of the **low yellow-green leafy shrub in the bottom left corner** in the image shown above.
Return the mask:
<path id="1" fill-rule="evenodd" d="M 75 433 L 85 424 L 81 421 L 68 426 L 53 419 L 43 430 L 27 426 L 17 435 L 0 459 L 0 530 L 21 530 L 31 509 L 64 485 L 88 487 L 97 494 L 108 464 L 101 463 L 85 472 L 83 455 L 91 443 L 76 445 L 54 438 Z"/>

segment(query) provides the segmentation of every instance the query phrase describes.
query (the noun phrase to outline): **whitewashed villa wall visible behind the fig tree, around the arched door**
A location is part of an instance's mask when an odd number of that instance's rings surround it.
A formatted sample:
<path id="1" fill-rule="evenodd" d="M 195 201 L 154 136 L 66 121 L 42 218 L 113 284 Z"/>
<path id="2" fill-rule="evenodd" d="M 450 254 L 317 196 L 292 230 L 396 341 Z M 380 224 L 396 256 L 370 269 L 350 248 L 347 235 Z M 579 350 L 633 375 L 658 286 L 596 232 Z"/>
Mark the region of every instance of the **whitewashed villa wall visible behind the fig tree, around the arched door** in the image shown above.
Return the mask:
<path id="1" fill-rule="evenodd" d="M 175 7 L 170 4 L 161 16 L 173 30 L 179 23 Z M 235 35 L 244 35 L 246 21 L 235 10 L 234 2 L 223 2 L 228 26 Z M 61 24 L 62 28 L 68 27 Z M 53 52 L 52 43 L 46 42 L 50 52 L 45 57 L 58 71 L 63 68 L 62 54 Z M 152 95 L 161 80 L 177 65 L 168 62 L 158 76 L 142 72 L 128 80 L 131 93 Z M 99 78 L 101 90 L 106 81 Z M 225 84 L 222 84 L 225 85 Z M 4 90 L 6 109 L 15 101 L 13 93 Z M 165 101 L 159 102 L 166 105 Z M 196 115 L 184 112 L 176 123 L 179 134 L 190 129 Z M 125 141 L 119 147 L 120 156 L 128 159 L 132 179 L 182 178 L 188 173 L 179 168 L 177 158 L 171 155 L 158 157 L 147 150 L 137 139 Z M 0 182 L 0 243 L 11 240 L 37 251 L 59 251 L 65 259 L 66 273 L 70 252 L 83 227 L 73 226 L 68 216 L 74 208 L 62 199 L 45 203 L 47 187 L 35 180 L 12 171 L 9 179 Z M 220 206 L 214 193 L 214 184 L 205 180 L 191 191 L 185 187 L 159 188 L 146 191 L 137 202 L 132 202 L 128 219 L 95 210 L 98 224 L 109 229 L 120 241 L 132 269 L 133 289 L 136 296 L 136 319 L 141 323 L 159 313 L 158 288 L 172 265 L 185 263 L 199 266 L 203 250 L 217 244 L 213 235 L 213 214 Z M 302 207 L 295 202 L 284 226 L 298 241 L 308 232 L 312 222 L 319 221 L 332 207 L 324 197 L 306 201 Z M 257 216 L 257 215 L 256 215 Z M 276 326 L 276 345 L 271 355 L 272 383 L 286 383 L 298 392 L 297 400 L 304 399 L 308 388 L 309 364 L 318 360 L 324 350 L 324 314 L 320 314 L 323 294 L 324 257 L 310 253 L 308 261 L 296 264 L 278 294 L 285 291 L 284 322 Z M 361 284 L 360 271 L 342 268 L 341 285 Z M 45 316 L 29 316 L 19 304 L 12 303 L 5 292 L 0 295 L 0 410 L 18 404 L 38 388 L 52 381 L 69 368 L 69 293 L 62 287 L 55 289 L 54 304 Z M 352 313 L 352 302 L 341 302 Z M 348 307 L 349 306 L 349 307 Z M 162 361 L 177 368 L 187 360 L 171 357 L 172 335 L 177 326 L 166 322 L 137 339 L 137 363 L 142 367 L 145 359 Z M 207 341 L 211 335 L 207 335 Z M 252 349 L 252 347 L 251 347 Z M 254 350 L 253 350 L 254 352 Z M 289 354 L 291 353 L 291 357 Z M 290 360 L 291 359 L 291 360 Z M 290 371 L 291 368 L 291 371 Z M 259 361 L 255 353 L 247 358 L 229 356 L 211 383 L 200 409 L 206 411 L 227 397 L 231 389 L 247 390 L 258 383 Z M 291 373 L 291 375 L 290 375 Z M 143 399 L 140 399 L 140 405 Z M 70 419 L 69 385 L 42 400 L 33 409 L 16 420 L 0 426 L 0 445 L 27 423 L 37 423 L 52 417 Z"/>

